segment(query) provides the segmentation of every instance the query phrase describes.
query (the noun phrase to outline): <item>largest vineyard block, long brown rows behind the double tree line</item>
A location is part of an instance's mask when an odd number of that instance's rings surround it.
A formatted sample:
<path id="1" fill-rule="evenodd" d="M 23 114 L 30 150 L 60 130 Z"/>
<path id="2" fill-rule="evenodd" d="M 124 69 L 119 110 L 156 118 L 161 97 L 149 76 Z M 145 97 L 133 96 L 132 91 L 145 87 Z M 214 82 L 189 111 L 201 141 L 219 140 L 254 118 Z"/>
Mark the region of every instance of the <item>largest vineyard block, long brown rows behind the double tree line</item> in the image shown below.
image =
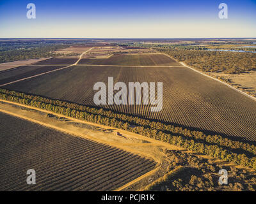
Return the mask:
<path id="1" fill-rule="evenodd" d="M 209 131 L 211 134 L 256 140 L 256 103 L 224 84 L 188 68 L 129 68 L 74 66 L 31 78 L 4 88 L 94 106 L 93 85 L 114 77 L 115 82 L 163 82 L 163 110 L 149 105 L 105 105 L 170 124 Z"/>

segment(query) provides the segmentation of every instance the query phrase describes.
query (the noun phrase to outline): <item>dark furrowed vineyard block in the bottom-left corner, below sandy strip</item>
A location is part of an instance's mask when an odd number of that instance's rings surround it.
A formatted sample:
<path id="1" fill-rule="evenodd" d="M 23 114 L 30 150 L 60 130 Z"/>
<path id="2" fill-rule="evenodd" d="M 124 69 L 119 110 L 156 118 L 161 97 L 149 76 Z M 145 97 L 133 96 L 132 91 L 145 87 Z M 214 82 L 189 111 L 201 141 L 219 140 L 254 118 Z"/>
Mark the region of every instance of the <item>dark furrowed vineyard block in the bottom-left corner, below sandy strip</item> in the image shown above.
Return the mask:
<path id="1" fill-rule="evenodd" d="M 110 191 L 156 163 L 0 112 L 0 191 Z M 36 171 L 36 185 L 26 171 Z"/>

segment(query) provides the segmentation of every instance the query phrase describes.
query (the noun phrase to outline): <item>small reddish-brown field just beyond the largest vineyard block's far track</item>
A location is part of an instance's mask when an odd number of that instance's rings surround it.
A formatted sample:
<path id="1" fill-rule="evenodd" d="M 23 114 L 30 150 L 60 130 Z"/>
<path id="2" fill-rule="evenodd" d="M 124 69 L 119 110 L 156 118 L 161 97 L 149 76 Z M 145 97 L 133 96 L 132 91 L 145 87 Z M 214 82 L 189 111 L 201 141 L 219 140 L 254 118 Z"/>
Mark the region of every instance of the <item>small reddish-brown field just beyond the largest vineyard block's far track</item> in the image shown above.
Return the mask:
<path id="1" fill-rule="evenodd" d="M 175 66 L 177 62 L 162 54 L 122 55 L 116 54 L 108 59 L 81 59 L 78 64 L 109 64 L 131 66 Z"/>

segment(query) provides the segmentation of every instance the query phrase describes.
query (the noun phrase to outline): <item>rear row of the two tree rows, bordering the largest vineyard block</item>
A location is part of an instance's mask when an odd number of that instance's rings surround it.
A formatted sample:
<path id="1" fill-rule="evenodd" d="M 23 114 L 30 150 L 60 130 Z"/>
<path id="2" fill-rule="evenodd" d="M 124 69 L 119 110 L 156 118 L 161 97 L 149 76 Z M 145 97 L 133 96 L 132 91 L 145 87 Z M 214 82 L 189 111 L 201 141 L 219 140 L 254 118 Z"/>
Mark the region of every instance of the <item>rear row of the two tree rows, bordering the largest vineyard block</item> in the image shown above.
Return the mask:
<path id="1" fill-rule="evenodd" d="M 125 115 L 124 113 L 114 113 L 110 110 L 103 110 L 102 108 L 91 108 L 89 106 L 78 105 L 77 103 L 70 103 L 67 101 L 60 101 L 56 99 L 49 99 L 44 98 L 42 96 L 35 96 L 31 94 L 24 94 L 22 92 L 16 91 L 8 91 L 6 89 L 0 89 L 1 93 L 10 95 L 10 96 L 17 96 L 19 98 L 29 99 L 31 100 L 31 104 L 33 103 L 43 103 L 48 104 L 50 106 L 58 106 L 63 108 L 68 108 L 68 110 L 78 110 L 81 112 L 92 113 L 93 115 L 100 115 L 101 117 L 108 117 L 113 118 L 118 121 L 128 122 L 133 126 L 142 126 L 145 128 L 156 129 L 157 131 L 162 131 L 163 133 L 170 133 L 172 135 L 180 135 L 184 138 L 189 138 L 196 140 L 198 142 L 205 142 L 213 145 L 220 145 L 223 147 L 227 147 L 228 149 L 239 149 L 244 150 L 244 152 L 250 152 L 256 155 L 256 146 L 245 143 L 239 142 L 236 140 L 230 140 L 220 135 L 205 135 L 202 131 L 191 131 L 187 128 L 182 128 L 179 126 L 173 126 L 170 124 L 164 124 L 163 122 L 157 122 L 154 120 L 142 119 L 140 117 L 134 117 L 131 115 Z M 40 107 L 39 107 L 40 108 Z"/>

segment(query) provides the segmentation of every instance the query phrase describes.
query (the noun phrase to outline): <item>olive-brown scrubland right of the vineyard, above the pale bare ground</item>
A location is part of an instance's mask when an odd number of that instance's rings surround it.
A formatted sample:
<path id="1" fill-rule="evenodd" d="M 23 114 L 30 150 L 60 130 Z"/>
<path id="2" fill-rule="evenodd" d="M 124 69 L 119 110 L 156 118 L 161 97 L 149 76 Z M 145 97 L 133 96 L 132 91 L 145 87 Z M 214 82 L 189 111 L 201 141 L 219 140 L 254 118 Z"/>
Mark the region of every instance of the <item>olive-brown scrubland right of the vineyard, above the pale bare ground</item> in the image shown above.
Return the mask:
<path id="1" fill-rule="evenodd" d="M 244 73 L 256 69 L 256 54 L 206 50 L 157 48 L 177 61 L 207 72 Z"/>

